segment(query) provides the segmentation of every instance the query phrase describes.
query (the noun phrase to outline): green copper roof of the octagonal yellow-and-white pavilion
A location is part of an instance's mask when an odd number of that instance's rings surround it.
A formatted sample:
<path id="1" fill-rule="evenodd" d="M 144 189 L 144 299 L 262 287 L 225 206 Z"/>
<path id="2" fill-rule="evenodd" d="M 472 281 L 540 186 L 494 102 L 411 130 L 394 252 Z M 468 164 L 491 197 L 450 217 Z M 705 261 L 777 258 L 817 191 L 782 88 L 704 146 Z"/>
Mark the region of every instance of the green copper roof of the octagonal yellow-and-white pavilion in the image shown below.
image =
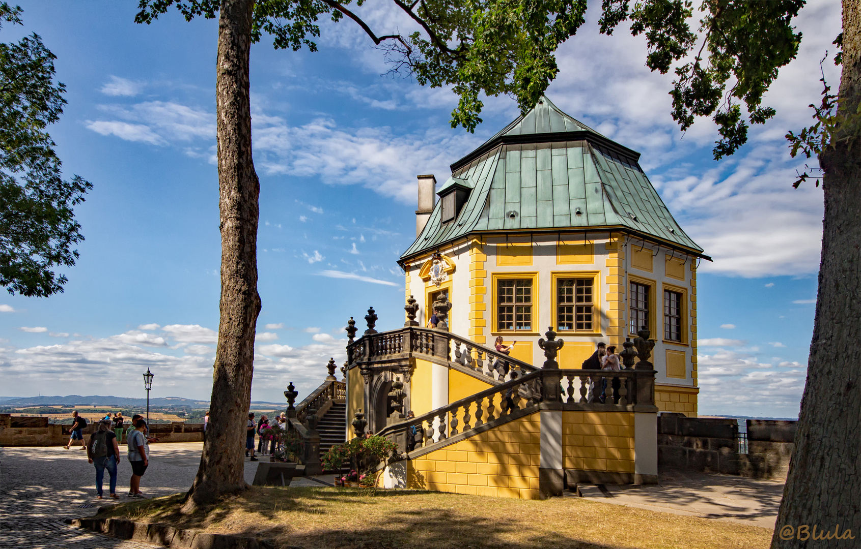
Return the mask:
<path id="1" fill-rule="evenodd" d="M 467 203 L 449 223 L 440 223 L 437 203 L 401 258 L 470 233 L 623 229 L 708 259 L 672 218 L 638 158 L 542 98 L 452 165 L 443 189 L 467 180 Z"/>

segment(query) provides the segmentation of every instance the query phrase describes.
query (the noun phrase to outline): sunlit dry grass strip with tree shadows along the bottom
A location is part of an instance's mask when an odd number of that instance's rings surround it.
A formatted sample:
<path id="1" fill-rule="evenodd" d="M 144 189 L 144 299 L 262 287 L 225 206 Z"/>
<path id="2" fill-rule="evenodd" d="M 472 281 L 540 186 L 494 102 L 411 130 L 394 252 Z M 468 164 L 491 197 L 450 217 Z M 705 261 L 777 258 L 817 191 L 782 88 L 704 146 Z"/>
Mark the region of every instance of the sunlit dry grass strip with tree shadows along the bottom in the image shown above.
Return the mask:
<path id="1" fill-rule="evenodd" d="M 182 515 L 179 495 L 100 516 L 254 535 L 306 549 L 765 548 L 771 531 L 580 500 L 523 501 L 431 491 L 259 488 Z"/>

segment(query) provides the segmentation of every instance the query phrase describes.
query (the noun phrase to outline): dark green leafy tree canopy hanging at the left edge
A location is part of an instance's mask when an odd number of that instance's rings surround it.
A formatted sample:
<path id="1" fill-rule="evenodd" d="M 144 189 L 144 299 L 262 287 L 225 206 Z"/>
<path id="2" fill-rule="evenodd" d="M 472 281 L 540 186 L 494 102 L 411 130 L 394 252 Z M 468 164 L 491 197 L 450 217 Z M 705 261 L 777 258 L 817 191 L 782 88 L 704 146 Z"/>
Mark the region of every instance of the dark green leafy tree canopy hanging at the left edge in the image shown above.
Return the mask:
<path id="1" fill-rule="evenodd" d="M 22 9 L 0 3 L 0 22 L 22 24 Z M 0 44 L 0 284 L 9 293 L 50 296 L 63 291 L 74 244 L 84 240 L 72 208 L 90 182 L 63 180 L 62 163 L 45 131 L 63 113 L 55 56 L 37 34 Z"/>

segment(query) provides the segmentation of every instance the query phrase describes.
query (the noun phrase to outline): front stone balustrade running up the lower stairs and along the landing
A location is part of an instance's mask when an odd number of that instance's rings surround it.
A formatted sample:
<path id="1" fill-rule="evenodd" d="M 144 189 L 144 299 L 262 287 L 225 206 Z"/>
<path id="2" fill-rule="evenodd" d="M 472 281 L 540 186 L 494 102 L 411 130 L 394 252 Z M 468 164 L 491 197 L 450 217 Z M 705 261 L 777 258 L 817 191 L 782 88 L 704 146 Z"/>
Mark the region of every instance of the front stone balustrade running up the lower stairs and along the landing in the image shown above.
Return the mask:
<path id="1" fill-rule="evenodd" d="M 414 448 L 428 447 L 539 402 L 562 410 L 631 412 L 635 406 L 653 408 L 655 373 L 644 369 L 540 369 L 418 418 L 387 425 L 377 434 L 393 438 L 403 450 L 410 449 L 406 448 L 407 430 L 415 429 Z M 604 380 L 606 396 L 602 401 Z"/>

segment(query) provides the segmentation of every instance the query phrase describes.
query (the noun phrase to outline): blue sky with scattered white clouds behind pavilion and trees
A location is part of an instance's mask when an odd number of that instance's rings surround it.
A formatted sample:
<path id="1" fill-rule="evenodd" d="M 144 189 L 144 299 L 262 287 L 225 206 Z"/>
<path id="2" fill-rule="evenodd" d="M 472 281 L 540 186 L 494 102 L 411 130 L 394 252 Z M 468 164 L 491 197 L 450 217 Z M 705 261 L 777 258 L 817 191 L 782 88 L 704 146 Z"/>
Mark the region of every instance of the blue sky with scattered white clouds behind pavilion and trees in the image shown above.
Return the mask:
<path id="1" fill-rule="evenodd" d="M 597 32 L 598 3 L 563 45 L 548 97 L 642 153 L 678 222 L 714 264 L 699 276 L 700 413 L 792 417 L 813 326 L 822 197 L 793 190 L 784 141 L 818 102 L 819 59 L 839 33 L 839 3 L 810 3 L 802 51 L 766 102 L 777 117 L 736 156 L 714 162 L 714 125 L 684 136 L 670 117 L 672 76 L 644 66 L 645 42 Z M 51 128 L 65 173 L 94 184 L 77 218 L 86 241 L 65 293 L 0 296 L 0 393 L 208 399 L 218 327 L 220 240 L 214 165 L 215 21 L 175 12 L 133 23 L 133 2 L 22 2 L 24 27 L 58 59 L 69 104 Z M 380 29 L 408 27 L 374 0 Z M 381 52 L 349 21 L 322 25 L 319 52 L 251 52 L 255 164 L 261 181 L 254 400 L 315 387 L 344 361 L 350 315 L 403 322 L 395 261 L 414 237 L 415 176 L 450 162 L 517 116 L 489 98 L 474 134 L 449 128 L 455 95 L 381 76 Z M 839 70 L 825 64 L 834 85 Z"/>

